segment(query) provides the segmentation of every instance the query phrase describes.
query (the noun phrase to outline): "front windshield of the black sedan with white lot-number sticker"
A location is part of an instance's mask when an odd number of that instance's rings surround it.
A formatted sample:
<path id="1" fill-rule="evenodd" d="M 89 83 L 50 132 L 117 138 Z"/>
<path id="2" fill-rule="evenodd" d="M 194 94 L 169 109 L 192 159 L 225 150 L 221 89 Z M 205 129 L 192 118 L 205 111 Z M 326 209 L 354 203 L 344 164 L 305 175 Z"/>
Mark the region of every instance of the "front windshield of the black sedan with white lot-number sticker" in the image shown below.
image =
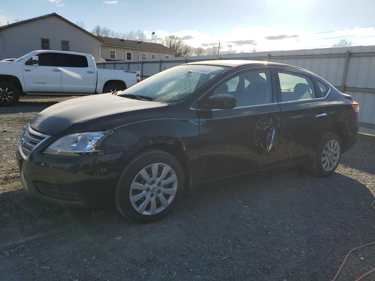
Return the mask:
<path id="1" fill-rule="evenodd" d="M 177 66 L 159 72 L 117 95 L 146 96 L 156 102 L 175 102 L 188 97 L 227 69 L 229 67 L 197 64 Z"/>

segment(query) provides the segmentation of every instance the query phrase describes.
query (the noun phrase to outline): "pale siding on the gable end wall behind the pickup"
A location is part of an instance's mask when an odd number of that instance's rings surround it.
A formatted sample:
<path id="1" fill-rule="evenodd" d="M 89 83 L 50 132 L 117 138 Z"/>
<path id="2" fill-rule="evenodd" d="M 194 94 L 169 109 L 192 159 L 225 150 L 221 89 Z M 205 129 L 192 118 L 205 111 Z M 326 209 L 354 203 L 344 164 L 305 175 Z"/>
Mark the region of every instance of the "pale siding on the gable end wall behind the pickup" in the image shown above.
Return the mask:
<path id="1" fill-rule="evenodd" d="M 40 50 L 41 38 L 49 39 L 49 49 L 61 51 L 61 40 L 69 41 L 69 51 L 90 54 L 99 62 L 100 41 L 72 24 L 48 16 L 0 30 L 3 35 L 4 57 L 18 58 Z"/>

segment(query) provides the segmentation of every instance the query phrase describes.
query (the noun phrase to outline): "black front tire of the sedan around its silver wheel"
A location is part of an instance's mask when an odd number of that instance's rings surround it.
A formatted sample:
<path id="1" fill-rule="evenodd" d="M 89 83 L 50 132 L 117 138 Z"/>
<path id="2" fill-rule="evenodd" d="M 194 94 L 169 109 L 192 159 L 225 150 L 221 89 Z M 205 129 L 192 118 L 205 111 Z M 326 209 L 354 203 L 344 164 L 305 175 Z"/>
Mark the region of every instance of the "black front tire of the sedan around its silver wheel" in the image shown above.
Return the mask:
<path id="1" fill-rule="evenodd" d="M 155 167 L 154 165 L 157 165 L 158 170 L 155 182 L 152 182 L 152 169 Z M 162 177 L 162 172 L 168 170 L 168 167 L 170 167 L 171 170 L 165 173 L 163 179 L 164 182 L 168 180 L 171 181 L 171 183 L 158 185 L 157 182 L 162 182 L 163 180 L 160 179 Z M 147 172 L 150 177 L 149 182 L 145 181 L 142 177 L 142 171 Z M 147 175 L 145 177 L 147 177 Z M 142 152 L 134 157 L 120 172 L 115 187 L 115 206 L 125 218 L 133 222 L 149 223 L 151 221 L 160 220 L 168 215 L 181 199 L 184 193 L 184 182 L 183 168 L 178 160 L 171 154 L 161 150 Z M 131 186 L 140 187 L 141 189 L 130 188 Z M 148 189 L 145 188 L 146 186 Z M 144 193 L 144 196 L 141 197 L 139 193 Z M 173 193 L 174 195 L 172 195 Z M 163 199 L 160 196 L 162 196 Z M 130 198 L 133 199 L 132 202 Z M 134 200 L 136 200 L 135 198 L 139 198 L 139 200 L 134 202 Z M 146 200 L 148 201 L 146 202 Z M 145 202 L 147 204 L 144 204 Z M 153 209 L 151 209 L 152 206 L 154 206 Z M 136 210 L 136 208 L 138 210 Z"/>

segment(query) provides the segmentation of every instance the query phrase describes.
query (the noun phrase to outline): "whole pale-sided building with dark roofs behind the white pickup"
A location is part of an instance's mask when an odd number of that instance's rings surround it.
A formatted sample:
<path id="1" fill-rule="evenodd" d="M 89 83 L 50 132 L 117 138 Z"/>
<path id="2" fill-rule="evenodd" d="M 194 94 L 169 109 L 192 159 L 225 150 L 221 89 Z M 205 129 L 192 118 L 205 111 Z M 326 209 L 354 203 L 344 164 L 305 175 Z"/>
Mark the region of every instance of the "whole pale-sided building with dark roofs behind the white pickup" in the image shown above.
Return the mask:
<path id="1" fill-rule="evenodd" d="M 161 44 L 95 36 L 57 13 L 0 26 L 0 60 L 35 50 L 90 54 L 96 63 L 174 57 Z"/>

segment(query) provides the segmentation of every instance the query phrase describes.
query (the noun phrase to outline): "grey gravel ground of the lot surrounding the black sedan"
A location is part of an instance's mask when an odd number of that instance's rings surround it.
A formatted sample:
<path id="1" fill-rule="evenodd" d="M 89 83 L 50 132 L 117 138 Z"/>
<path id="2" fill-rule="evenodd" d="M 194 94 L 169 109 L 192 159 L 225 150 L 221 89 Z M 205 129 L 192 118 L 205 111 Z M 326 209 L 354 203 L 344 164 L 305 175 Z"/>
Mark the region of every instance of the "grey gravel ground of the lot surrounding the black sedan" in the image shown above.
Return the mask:
<path id="1" fill-rule="evenodd" d="M 332 280 L 348 251 L 375 241 L 375 136 L 363 134 L 328 178 L 288 166 L 205 183 L 156 223 L 37 204 L 20 184 L 18 139 L 69 98 L 0 108 L 1 280 Z M 354 252 L 338 280 L 372 269 L 374 250 Z"/>

